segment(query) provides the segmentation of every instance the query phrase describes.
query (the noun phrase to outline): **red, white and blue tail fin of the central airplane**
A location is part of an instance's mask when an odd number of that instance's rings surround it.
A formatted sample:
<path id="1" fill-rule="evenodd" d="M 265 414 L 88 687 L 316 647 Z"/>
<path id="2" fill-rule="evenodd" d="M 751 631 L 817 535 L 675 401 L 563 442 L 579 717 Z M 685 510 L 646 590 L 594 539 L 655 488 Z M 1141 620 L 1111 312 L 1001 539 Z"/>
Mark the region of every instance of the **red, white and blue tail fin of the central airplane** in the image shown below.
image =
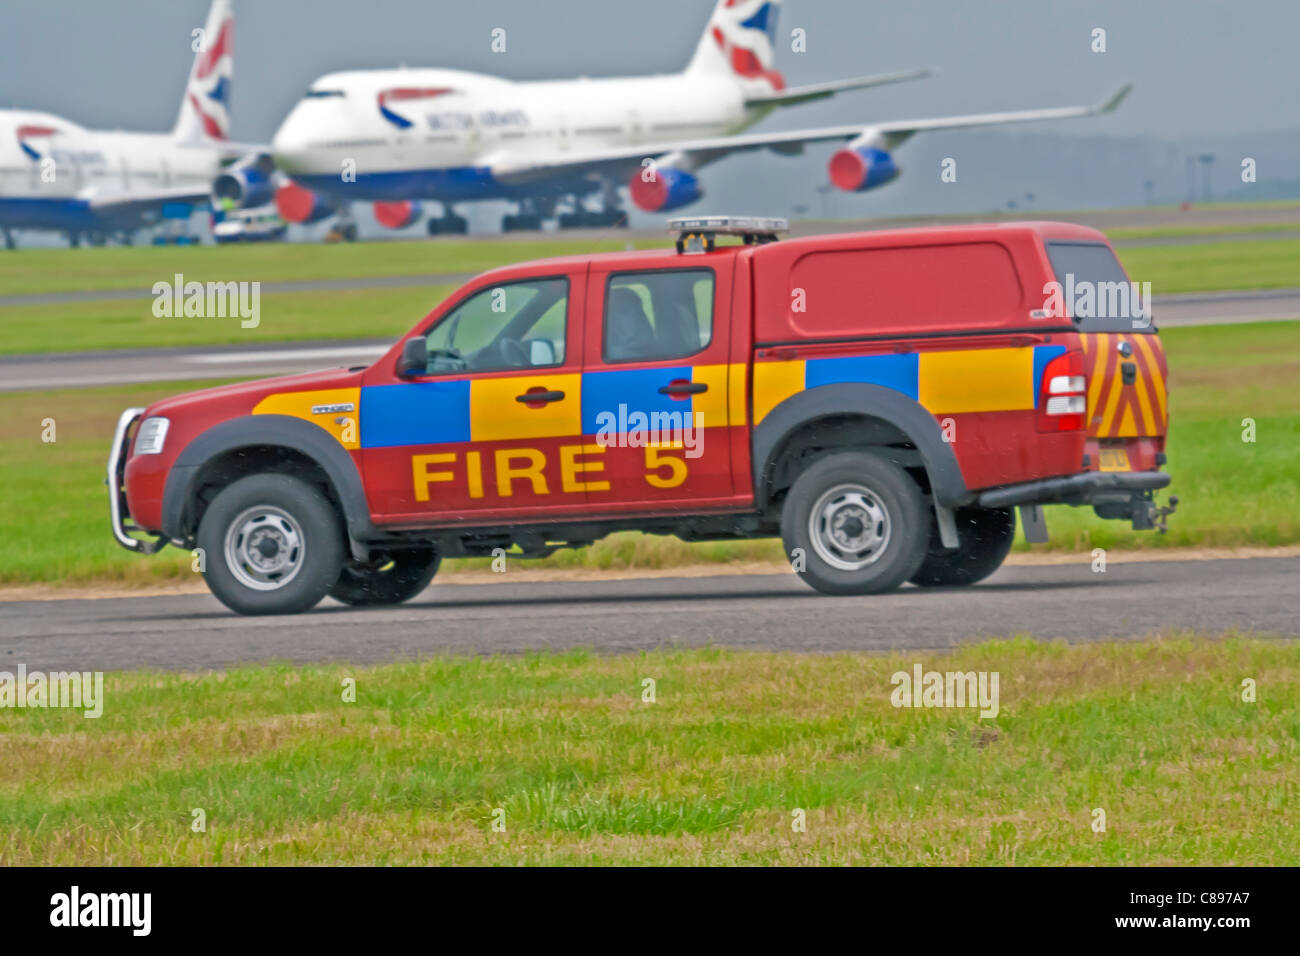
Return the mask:
<path id="1" fill-rule="evenodd" d="M 776 14 L 781 0 L 718 0 L 686 74 L 732 75 L 749 92 L 776 92 Z"/>

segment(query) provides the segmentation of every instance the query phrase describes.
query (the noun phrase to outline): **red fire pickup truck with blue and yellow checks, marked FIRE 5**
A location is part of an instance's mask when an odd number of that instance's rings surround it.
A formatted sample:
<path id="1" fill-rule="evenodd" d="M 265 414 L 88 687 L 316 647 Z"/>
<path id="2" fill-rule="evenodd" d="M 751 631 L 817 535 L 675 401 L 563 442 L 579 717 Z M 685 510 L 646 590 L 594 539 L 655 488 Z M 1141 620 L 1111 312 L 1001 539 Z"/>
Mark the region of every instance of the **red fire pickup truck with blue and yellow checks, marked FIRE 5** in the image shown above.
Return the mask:
<path id="1" fill-rule="evenodd" d="M 1097 315 L 1130 286 L 1100 233 L 675 228 L 488 272 L 369 367 L 129 408 L 116 538 L 203 549 L 217 598 L 276 614 L 623 529 L 780 536 L 810 585 L 863 594 L 985 578 L 1017 506 L 1030 540 L 1049 502 L 1162 525 L 1165 355 L 1145 310 Z"/>

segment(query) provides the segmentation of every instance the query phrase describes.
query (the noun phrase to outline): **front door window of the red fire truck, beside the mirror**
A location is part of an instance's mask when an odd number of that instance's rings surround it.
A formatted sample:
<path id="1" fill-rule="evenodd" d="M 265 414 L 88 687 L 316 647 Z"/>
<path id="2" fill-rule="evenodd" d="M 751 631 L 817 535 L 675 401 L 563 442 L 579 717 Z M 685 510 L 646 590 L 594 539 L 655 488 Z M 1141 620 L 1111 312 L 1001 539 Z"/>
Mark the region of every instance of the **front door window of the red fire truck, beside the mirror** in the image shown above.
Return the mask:
<path id="1" fill-rule="evenodd" d="M 426 375 L 562 365 L 567 326 L 567 278 L 481 289 L 429 330 Z"/>

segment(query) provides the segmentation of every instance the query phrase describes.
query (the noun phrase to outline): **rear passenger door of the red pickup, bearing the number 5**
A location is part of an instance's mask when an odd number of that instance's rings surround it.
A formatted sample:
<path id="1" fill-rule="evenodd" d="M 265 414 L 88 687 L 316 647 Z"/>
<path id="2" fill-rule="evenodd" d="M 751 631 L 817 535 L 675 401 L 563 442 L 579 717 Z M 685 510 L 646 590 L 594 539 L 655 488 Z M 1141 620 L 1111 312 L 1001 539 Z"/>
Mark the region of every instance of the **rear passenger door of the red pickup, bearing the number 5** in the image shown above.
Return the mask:
<path id="1" fill-rule="evenodd" d="M 601 449 L 607 479 L 586 488 L 594 514 L 733 503 L 732 269 L 731 256 L 675 269 L 593 265 L 582 436 Z"/>

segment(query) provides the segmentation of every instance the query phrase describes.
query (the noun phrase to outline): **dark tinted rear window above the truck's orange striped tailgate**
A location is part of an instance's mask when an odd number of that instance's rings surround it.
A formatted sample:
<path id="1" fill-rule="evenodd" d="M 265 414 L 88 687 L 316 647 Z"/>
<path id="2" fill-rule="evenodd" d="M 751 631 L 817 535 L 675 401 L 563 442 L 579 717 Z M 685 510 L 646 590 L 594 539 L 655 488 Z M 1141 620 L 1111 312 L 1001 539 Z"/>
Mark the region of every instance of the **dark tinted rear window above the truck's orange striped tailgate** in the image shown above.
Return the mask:
<path id="1" fill-rule="evenodd" d="M 1048 242 L 1061 300 L 1079 332 L 1154 332 L 1150 284 L 1130 282 L 1104 242 Z"/>

